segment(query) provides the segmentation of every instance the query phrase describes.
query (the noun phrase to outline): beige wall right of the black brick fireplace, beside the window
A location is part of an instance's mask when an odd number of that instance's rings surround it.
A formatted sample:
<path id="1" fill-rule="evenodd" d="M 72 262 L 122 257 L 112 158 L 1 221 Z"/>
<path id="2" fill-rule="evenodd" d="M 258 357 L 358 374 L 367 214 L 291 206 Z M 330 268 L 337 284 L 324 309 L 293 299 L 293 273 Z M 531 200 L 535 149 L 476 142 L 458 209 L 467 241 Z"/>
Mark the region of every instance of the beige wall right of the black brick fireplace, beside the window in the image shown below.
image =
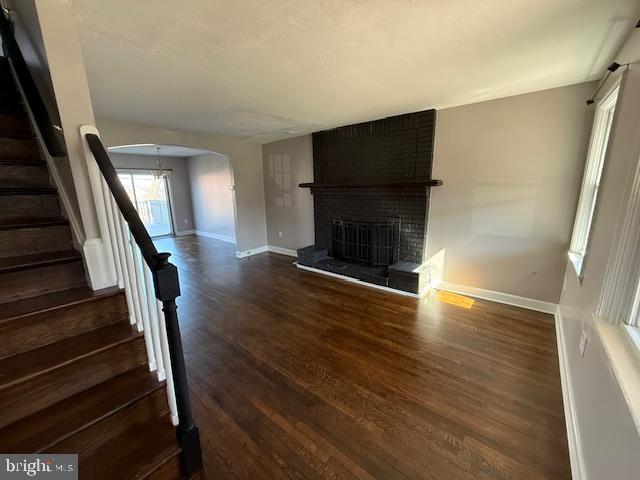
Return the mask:
<path id="1" fill-rule="evenodd" d="M 437 114 L 427 257 L 444 280 L 557 303 L 584 168 L 591 83 Z"/>

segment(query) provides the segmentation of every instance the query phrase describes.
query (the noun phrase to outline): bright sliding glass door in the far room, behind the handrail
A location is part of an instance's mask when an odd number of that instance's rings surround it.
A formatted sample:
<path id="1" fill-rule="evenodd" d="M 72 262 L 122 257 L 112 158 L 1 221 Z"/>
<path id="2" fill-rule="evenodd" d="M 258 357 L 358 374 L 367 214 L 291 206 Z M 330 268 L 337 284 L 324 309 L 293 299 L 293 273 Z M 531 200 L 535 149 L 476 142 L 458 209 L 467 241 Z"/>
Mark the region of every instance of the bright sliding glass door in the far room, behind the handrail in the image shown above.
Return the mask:
<path id="1" fill-rule="evenodd" d="M 151 237 L 173 235 L 167 178 L 146 172 L 118 172 L 118 177 L 136 207 Z"/>

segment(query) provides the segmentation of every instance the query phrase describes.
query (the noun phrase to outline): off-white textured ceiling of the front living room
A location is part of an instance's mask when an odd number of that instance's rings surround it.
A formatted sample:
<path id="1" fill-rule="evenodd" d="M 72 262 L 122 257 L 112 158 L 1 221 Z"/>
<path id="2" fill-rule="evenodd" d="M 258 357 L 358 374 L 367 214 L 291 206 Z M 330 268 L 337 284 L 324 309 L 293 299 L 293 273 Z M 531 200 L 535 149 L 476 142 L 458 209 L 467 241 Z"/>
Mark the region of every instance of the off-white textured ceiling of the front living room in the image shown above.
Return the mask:
<path id="1" fill-rule="evenodd" d="M 601 76 L 637 0 L 74 0 L 99 117 L 267 142 Z"/>

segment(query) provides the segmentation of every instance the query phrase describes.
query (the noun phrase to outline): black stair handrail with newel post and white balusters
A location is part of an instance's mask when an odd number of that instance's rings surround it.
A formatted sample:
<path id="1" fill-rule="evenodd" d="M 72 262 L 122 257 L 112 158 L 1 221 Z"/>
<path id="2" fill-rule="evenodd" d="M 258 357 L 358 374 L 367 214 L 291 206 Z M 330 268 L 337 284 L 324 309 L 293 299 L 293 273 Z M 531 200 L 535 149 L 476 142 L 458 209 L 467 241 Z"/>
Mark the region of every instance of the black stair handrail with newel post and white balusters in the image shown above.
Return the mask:
<path id="1" fill-rule="evenodd" d="M 115 259 L 115 261 L 120 261 L 119 270 L 123 272 L 123 274 L 124 272 L 128 272 L 130 277 L 129 284 L 131 292 L 128 292 L 128 295 L 133 297 L 132 300 L 134 302 L 140 302 L 140 309 L 146 309 L 142 313 L 145 323 L 154 320 L 158 321 L 157 326 L 152 324 L 150 328 L 146 328 L 146 326 L 139 328 L 145 331 L 145 335 L 149 334 L 152 336 L 149 337 L 150 342 L 147 347 L 150 365 L 153 362 L 152 369 L 155 369 L 157 364 L 164 365 L 167 373 L 167 390 L 169 392 L 173 391 L 175 394 L 175 406 L 178 415 L 176 434 L 183 450 L 185 471 L 187 474 L 191 474 L 202 468 L 202 454 L 198 427 L 193 420 L 191 410 L 184 353 L 182 351 L 182 340 L 180 337 L 180 325 L 178 322 L 176 306 L 176 298 L 180 296 L 178 269 L 169 262 L 171 254 L 158 252 L 156 246 L 153 244 L 149 232 L 142 223 L 129 195 L 118 178 L 116 169 L 111 163 L 109 155 L 100 141 L 100 137 L 95 133 L 83 133 L 83 135 L 102 174 L 103 185 L 106 185 L 111 193 L 113 206 L 116 207 L 113 209 L 116 211 L 112 211 L 112 215 L 107 215 L 107 217 L 109 217 L 110 221 L 114 222 L 117 222 L 115 219 L 112 220 L 114 217 L 121 217 L 123 223 L 128 227 L 126 230 L 131 234 L 131 247 L 135 244 L 135 246 L 139 248 L 144 264 L 151 271 L 155 298 L 162 304 L 162 311 L 155 312 L 156 315 L 154 315 L 154 312 L 151 311 L 154 306 L 149 305 L 147 301 L 147 294 L 149 292 L 146 290 L 146 286 L 148 286 L 149 282 L 145 282 L 143 274 L 140 273 L 134 263 L 127 265 L 122 262 L 123 256 L 128 258 L 130 262 L 135 262 L 136 254 L 134 252 L 133 255 L 130 255 L 131 250 L 129 250 L 129 256 L 127 256 L 127 250 L 124 249 L 123 251 L 123 248 L 120 246 L 120 248 L 118 248 L 119 253 L 114 254 L 114 256 L 120 258 L 120 260 L 118 260 L 118 258 Z M 117 237 L 118 233 L 120 233 L 120 236 L 123 234 L 126 236 L 126 233 L 128 233 L 122 232 L 122 229 L 118 232 L 117 229 L 112 228 L 111 225 L 109 226 L 109 230 L 110 233 L 115 232 L 115 235 L 111 233 L 111 237 Z M 124 283 L 126 287 L 127 282 L 125 281 Z M 125 291 L 126 290 L 127 288 L 125 288 Z M 160 313 L 162 313 L 162 315 L 160 315 Z M 162 322 L 161 316 L 164 317 L 164 322 Z M 136 323 L 138 322 L 142 322 L 142 319 L 138 318 Z M 161 350 L 163 350 L 163 344 L 168 348 L 169 362 L 163 362 L 163 354 L 165 352 L 158 352 L 156 351 L 157 348 L 154 349 L 154 345 L 160 345 Z M 170 394 L 170 404 L 172 400 Z"/>

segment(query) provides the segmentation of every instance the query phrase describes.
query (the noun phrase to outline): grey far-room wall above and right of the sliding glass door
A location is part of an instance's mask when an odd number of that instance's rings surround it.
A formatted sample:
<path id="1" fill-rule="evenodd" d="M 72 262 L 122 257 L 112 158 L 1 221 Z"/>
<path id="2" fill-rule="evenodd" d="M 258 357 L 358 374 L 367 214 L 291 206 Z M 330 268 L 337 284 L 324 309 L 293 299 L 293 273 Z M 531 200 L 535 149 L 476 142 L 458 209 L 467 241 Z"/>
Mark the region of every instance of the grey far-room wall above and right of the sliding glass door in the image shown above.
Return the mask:
<path id="1" fill-rule="evenodd" d="M 109 152 L 116 168 L 158 168 L 156 157 Z M 162 167 L 171 170 L 167 177 L 171 194 L 171 213 L 176 233 L 193 230 L 191 188 L 184 157 L 162 157 Z"/>

